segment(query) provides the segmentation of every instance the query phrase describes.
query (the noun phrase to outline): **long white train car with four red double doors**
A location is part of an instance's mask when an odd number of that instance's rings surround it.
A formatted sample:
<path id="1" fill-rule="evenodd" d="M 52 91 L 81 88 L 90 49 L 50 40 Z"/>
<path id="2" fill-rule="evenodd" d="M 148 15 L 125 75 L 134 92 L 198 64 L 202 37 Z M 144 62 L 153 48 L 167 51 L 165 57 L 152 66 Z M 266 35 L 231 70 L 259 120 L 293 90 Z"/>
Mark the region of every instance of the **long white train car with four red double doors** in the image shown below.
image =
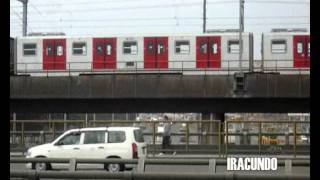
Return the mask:
<path id="1" fill-rule="evenodd" d="M 238 33 L 17 38 L 17 74 L 66 76 L 101 72 L 178 71 L 227 74 L 240 69 Z M 243 33 L 244 71 L 253 64 L 253 35 Z"/>

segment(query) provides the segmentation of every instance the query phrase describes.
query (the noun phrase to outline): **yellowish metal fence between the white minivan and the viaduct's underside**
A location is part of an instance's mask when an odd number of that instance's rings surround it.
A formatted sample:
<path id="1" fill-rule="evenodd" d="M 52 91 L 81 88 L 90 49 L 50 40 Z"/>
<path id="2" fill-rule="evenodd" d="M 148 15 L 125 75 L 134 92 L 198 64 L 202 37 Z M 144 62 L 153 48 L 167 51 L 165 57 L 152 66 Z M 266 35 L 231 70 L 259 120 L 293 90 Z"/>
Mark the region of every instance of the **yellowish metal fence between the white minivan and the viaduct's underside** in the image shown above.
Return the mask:
<path id="1" fill-rule="evenodd" d="M 123 120 L 123 121 L 90 121 L 87 122 L 85 120 L 50 120 L 50 121 L 40 121 L 40 120 L 12 120 L 10 121 L 10 125 L 11 125 L 11 138 L 12 138 L 12 144 L 20 144 L 20 146 L 26 146 L 26 136 L 27 135 L 31 135 L 31 137 L 35 138 L 41 138 L 42 141 L 40 143 L 44 143 L 47 142 L 47 140 L 45 139 L 46 135 L 49 134 L 51 135 L 50 140 L 55 139 L 55 137 L 57 137 L 57 135 L 62 134 L 64 131 L 66 131 L 68 125 L 76 125 L 73 126 L 72 128 L 83 128 L 83 127 L 101 127 L 101 126 L 139 126 L 139 127 L 149 127 L 149 129 L 151 129 L 151 132 L 145 132 L 144 136 L 146 137 L 150 137 L 151 136 L 151 141 L 148 144 L 148 146 L 151 148 L 148 148 L 149 150 L 151 149 L 151 153 L 153 156 L 155 156 L 155 154 L 159 151 L 176 151 L 178 152 L 179 150 L 177 149 L 169 149 L 169 150 L 162 150 L 162 149 L 158 149 L 156 147 L 156 137 L 162 136 L 162 133 L 157 132 L 156 128 L 158 127 L 158 125 L 160 123 L 163 123 L 165 121 L 127 121 L 127 120 Z M 293 136 L 294 141 L 293 141 L 293 155 L 294 157 L 296 157 L 297 155 L 297 137 L 298 136 L 310 136 L 309 133 L 303 133 L 303 132 L 298 132 L 297 131 L 297 124 L 309 124 L 310 121 L 225 121 L 224 123 L 222 123 L 219 120 L 196 120 L 196 121 L 170 121 L 172 124 L 185 124 L 185 127 L 180 128 L 181 130 L 183 130 L 182 132 L 175 132 L 172 133 L 171 136 L 172 137 L 183 137 L 184 138 L 184 149 L 180 149 L 181 152 L 193 152 L 194 150 L 190 149 L 190 147 L 194 147 L 194 145 L 190 145 L 190 137 L 195 136 L 198 137 L 198 141 L 202 141 L 201 144 L 215 144 L 215 146 L 217 146 L 217 149 L 209 149 L 209 150 L 205 150 L 203 151 L 205 152 L 211 152 L 213 150 L 217 151 L 217 154 L 220 156 L 223 155 L 228 155 L 230 150 L 229 150 L 229 137 L 231 136 L 240 136 L 243 137 L 244 139 L 246 139 L 246 137 L 249 136 L 256 136 L 258 137 L 258 147 L 257 147 L 257 153 L 261 154 L 263 153 L 262 151 L 262 147 L 266 147 L 266 146 L 270 146 L 268 144 L 264 145 L 262 144 L 262 136 L 266 135 L 266 136 L 285 136 L 286 139 L 289 139 L 290 137 Z M 257 131 L 258 132 L 230 132 L 229 131 L 229 124 L 238 124 L 238 123 L 245 123 L 245 124 L 258 124 L 257 127 Z M 281 133 L 281 132 L 277 132 L 277 133 L 270 133 L 270 132 L 263 132 L 262 131 L 262 124 L 270 124 L 270 123 L 277 123 L 277 124 L 288 124 L 289 125 L 293 125 L 293 132 L 288 133 Z M 26 124 L 37 124 L 40 128 L 43 129 L 44 125 L 48 125 L 51 126 L 50 130 L 46 130 L 46 131 L 35 131 L 35 130 L 28 130 L 26 131 L 25 126 Z M 60 125 L 60 130 L 57 130 L 57 127 Z M 63 126 L 62 126 L 63 125 Z M 197 130 L 196 132 L 190 132 L 190 127 L 194 125 L 197 126 Z M 34 128 L 34 126 L 32 126 Z M 63 127 L 63 129 L 62 129 Z M 215 127 L 215 129 L 218 132 L 213 132 L 213 130 L 199 130 L 199 127 L 206 127 L 209 128 L 211 127 L 211 129 L 213 129 Z M 30 127 L 29 127 L 30 128 Z M 224 131 L 223 131 L 224 130 Z M 199 132 L 200 131 L 200 132 Z M 208 132 L 207 132 L 208 131 Z M 20 141 L 17 143 L 16 142 L 16 137 L 20 137 Z M 214 140 L 213 137 L 216 137 L 216 139 Z M 201 139 L 200 139 L 201 138 Z M 200 140 L 199 140 L 200 139 Z M 40 144 L 38 143 L 38 144 Z M 198 143 L 199 144 L 199 143 Z M 224 146 L 223 146 L 224 145 Z M 247 144 L 245 144 L 247 145 Z M 288 145 L 290 145 L 290 143 L 286 143 L 285 146 L 288 147 Z M 174 145 L 173 145 L 174 146 Z M 198 145 L 197 145 L 198 146 Z M 254 145 L 250 145 L 255 147 Z M 279 145 L 280 146 L 280 145 Z M 237 145 L 235 146 L 237 147 Z M 291 147 L 291 146 L 290 146 Z M 254 150 L 255 151 L 255 150 Z"/>

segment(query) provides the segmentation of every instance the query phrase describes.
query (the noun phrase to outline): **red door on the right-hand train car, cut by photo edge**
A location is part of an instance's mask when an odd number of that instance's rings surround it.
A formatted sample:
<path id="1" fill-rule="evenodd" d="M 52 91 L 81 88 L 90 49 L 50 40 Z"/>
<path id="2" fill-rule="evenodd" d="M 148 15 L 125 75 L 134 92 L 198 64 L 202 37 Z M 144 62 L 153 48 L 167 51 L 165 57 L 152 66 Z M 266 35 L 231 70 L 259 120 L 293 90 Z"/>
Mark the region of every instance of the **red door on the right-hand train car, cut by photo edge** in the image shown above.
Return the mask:
<path id="1" fill-rule="evenodd" d="M 293 36 L 293 67 L 310 67 L 310 37 L 306 35 Z"/>

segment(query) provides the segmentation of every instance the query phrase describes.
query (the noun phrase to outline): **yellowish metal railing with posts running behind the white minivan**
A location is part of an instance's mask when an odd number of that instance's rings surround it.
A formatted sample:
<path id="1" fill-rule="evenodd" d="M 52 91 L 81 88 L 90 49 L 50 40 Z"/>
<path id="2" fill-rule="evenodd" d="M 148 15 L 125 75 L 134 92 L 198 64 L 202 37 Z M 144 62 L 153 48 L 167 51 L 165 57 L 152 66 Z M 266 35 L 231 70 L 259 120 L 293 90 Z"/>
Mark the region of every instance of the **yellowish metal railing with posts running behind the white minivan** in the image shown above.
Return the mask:
<path id="1" fill-rule="evenodd" d="M 68 124 L 77 124 L 79 128 L 83 128 L 83 127 L 96 127 L 96 126 L 110 126 L 110 125 L 115 125 L 115 124 L 120 124 L 121 126 L 123 125 L 141 125 L 141 124 L 148 124 L 149 126 L 151 126 L 152 132 L 151 133 L 145 133 L 145 136 L 152 136 L 152 142 L 151 144 L 153 145 L 153 156 L 155 156 L 156 153 L 156 149 L 155 149 L 155 145 L 156 145 L 156 137 L 157 136 L 161 136 L 161 133 L 157 133 L 156 132 L 156 127 L 157 124 L 159 123 L 163 123 L 165 121 L 90 121 L 87 122 L 86 120 L 51 120 L 51 121 L 39 121 L 39 120 L 12 120 L 10 121 L 10 124 L 12 125 L 12 131 L 10 131 L 10 134 L 12 135 L 12 137 L 15 137 L 17 135 L 19 135 L 21 137 L 21 141 L 20 141 L 20 145 L 25 146 L 25 136 L 27 134 L 33 134 L 33 135 L 39 135 L 42 137 L 45 137 L 45 134 L 51 134 L 53 136 L 53 138 L 55 138 L 57 136 L 57 134 L 61 134 L 62 131 L 57 131 L 56 127 L 58 126 L 58 124 L 63 124 L 64 127 L 64 131 L 67 130 L 67 125 Z M 230 136 L 242 136 L 242 137 L 247 137 L 247 136 L 257 136 L 258 137 L 258 152 L 262 153 L 262 146 L 264 146 L 262 144 L 262 136 L 263 135 L 267 135 L 267 136 L 285 136 L 286 139 L 289 139 L 289 137 L 293 136 L 294 138 L 294 142 L 293 142 L 293 154 L 296 157 L 297 151 L 296 151 L 296 147 L 297 147 L 297 136 L 300 135 L 306 135 L 306 136 L 310 136 L 309 133 L 298 133 L 297 131 L 297 124 L 309 124 L 310 121 L 225 121 L 224 123 L 222 123 L 219 120 L 196 120 L 196 121 L 169 121 L 171 123 L 185 123 L 185 132 L 184 133 L 173 133 L 172 136 L 185 136 L 185 151 L 188 152 L 189 151 L 189 138 L 190 136 L 201 136 L 201 137 L 205 137 L 206 142 L 208 142 L 208 137 L 217 137 L 218 136 L 218 153 L 219 156 L 221 156 L 222 154 L 227 155 L 228 154 L 228 140 Z M 51 131 L 38 131 L 38 133 L 36 131 L 25 131 L 25 125 L 26 124 L 32 124 L 32 123 L 37 123 L 37 124 L 48 124 L 51 125 L 52 129 Z M 217 133 L 191 133 L 189 131 L 189 127 L 190 124 L 193 123 L 197 123 L 198 125 L 200 124 L 205 124 L 207 126 L 212 126 L 215 125 L 216 127 L 218 127 L 218 132 Z M 258 133 L 249 133 L 249 132 L 242 132 L 242 133 L 231 133 L 229 132 L 229 124 L 234 124 L 234 123 L 257 123 L 258 124 Z M 293 125 L 293 132 L 292 133 L 265 133 L 262 132 L 262 124 L 269 124 L 269 123 L 278 123 L 278 124 L 283 124 L 283 123 L 287 123 L 288 125 L 291 124 Z M 17 125 L 20 125 L 20 130 L 17 131 Z M 225 129 L 225 132 L 223 132 L 222 130 Z M 13 138 L 15 139 L 15 138 Z M 222 139 L 225 139 L 225 142 L 222 142 Z M 44 140 L 45 141 L 45 140 Z M 222 152 L 222 145 L 225 146 L 224 148 L 224 152 Z"/>

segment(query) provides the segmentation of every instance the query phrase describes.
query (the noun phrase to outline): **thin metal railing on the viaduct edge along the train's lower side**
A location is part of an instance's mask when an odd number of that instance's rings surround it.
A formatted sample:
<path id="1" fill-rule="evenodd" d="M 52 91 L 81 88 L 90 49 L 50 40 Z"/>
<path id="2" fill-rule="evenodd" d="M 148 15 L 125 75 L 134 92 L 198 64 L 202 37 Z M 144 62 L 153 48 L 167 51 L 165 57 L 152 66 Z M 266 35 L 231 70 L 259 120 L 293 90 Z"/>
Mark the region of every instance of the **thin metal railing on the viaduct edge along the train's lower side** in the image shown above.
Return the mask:
<path id="1" fill-rule="evenodd" d="M 249 72 L 250 66 L 254 72 L 282 72 L 290 71 L 298 74 L 309 73 L 310 67 L 295 68 L 293 60 L 255 60 L 251 65 L 250 60 L 242 60 L 242 70 Z M 129 64 L 128 64 L 129 63 Z M 238 60 L 209 60 L 209 61 L 157 61 L 144 62 L 135 61 L 101 61 L 101 62 L 28 62 L 14 63 L 17 74 L 46 74 L 64 73 L 64 75 L 92 74 L 92 73 L 183 73 L 202 72 L 210 74 L 220 72 L 222 74 L 233 74 L 239 71 Z M 291 64 L 291 65 L 290 65 Z"/>

